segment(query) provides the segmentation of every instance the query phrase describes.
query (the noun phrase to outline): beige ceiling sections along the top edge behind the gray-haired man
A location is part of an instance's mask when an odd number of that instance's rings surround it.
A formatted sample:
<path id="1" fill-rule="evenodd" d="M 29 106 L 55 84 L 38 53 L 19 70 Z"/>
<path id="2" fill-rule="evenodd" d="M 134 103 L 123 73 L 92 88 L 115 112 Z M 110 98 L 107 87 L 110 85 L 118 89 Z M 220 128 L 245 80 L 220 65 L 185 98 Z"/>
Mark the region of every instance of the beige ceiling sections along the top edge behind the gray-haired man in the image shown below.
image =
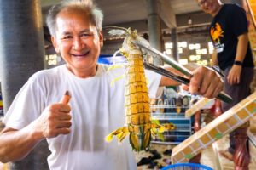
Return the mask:
<path id="1" fill-rule="evenodd" d="M 150 0 L 95 0 L 104 13 L 104 26 L 147 20 L 148 1 Z M 47 14 L 50 6 L 58 2 L 61 0 L 41 0 L 43 16 Z M 200 11 L 195 0 L 157 0 L 157 3 L 160 7 L 160 18 L 168 27 L 176 27 L 178 14 Z"/>

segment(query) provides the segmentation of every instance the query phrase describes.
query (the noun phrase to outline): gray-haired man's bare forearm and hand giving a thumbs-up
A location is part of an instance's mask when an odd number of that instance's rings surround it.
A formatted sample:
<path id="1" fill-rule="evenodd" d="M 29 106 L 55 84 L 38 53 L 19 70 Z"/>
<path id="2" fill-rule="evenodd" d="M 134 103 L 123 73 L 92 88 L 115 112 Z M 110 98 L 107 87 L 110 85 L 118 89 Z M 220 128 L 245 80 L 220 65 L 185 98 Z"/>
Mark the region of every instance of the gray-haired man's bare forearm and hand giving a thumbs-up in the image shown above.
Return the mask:
<path id="1" fill-rule="evenodd" d="M 20 130 L 5 127 L 0 133 L 0 161 L 19 161 L 25 158 L 42 139 L 70 133 L 70 106 L 54 104 L 41 116 Z"/>

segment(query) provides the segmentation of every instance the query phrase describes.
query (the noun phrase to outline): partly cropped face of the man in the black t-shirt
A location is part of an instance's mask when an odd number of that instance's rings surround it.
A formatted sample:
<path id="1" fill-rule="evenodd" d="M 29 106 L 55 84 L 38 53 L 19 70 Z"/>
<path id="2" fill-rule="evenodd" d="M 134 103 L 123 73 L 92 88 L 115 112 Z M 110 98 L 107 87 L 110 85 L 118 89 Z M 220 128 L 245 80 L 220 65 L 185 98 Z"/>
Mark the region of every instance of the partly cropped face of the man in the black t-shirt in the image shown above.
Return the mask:
<path id="1" fill-rule="evenodd" d="M 197 0 L 197 3 L 205 13 L 213 16 L 218 14 L 218 9 L 220 7 L 220 2 L 218 0 Z"/>

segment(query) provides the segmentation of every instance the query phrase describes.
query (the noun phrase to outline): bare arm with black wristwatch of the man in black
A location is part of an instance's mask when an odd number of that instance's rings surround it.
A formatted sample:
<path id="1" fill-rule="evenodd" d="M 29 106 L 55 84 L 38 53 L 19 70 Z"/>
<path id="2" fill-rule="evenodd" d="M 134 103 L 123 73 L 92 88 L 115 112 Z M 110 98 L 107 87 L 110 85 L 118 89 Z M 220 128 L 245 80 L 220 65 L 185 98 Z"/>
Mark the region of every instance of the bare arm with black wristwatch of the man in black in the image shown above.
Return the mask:
<path id="1" fill-rule="evenodd" d="M 243 62 L 246 54 L 247 54 L 247 46 L 248 46 L 248 35 L 247 33 L 241 34 L 238 38 L 237 48 L 236 48 L 236 58 L 235 61 Z M 229 75 L 227 77 L 228 82 L 233 85 L 240 82 L 241 76 L 241 65 L 233 65 L 230 69 Z"/>

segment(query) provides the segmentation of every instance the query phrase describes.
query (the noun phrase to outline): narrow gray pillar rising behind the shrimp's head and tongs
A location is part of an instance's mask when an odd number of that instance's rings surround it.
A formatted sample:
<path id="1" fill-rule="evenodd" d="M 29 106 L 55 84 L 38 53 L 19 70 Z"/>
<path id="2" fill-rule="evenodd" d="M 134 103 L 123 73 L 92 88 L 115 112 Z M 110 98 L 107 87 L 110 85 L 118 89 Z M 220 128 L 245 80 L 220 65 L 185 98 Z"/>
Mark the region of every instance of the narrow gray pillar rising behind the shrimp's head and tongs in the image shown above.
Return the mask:
<path id="1" fill-rule="evenodd" d="M 158 0 L 147 0 L 148 8 L 148 34 L 149 42 L 153 48 L 161 51 L 161 27 L 159 8 L 160 4 Z M 154 58 L 154 65 L 163 65 L 163 61 L 160 58 Z"/>

